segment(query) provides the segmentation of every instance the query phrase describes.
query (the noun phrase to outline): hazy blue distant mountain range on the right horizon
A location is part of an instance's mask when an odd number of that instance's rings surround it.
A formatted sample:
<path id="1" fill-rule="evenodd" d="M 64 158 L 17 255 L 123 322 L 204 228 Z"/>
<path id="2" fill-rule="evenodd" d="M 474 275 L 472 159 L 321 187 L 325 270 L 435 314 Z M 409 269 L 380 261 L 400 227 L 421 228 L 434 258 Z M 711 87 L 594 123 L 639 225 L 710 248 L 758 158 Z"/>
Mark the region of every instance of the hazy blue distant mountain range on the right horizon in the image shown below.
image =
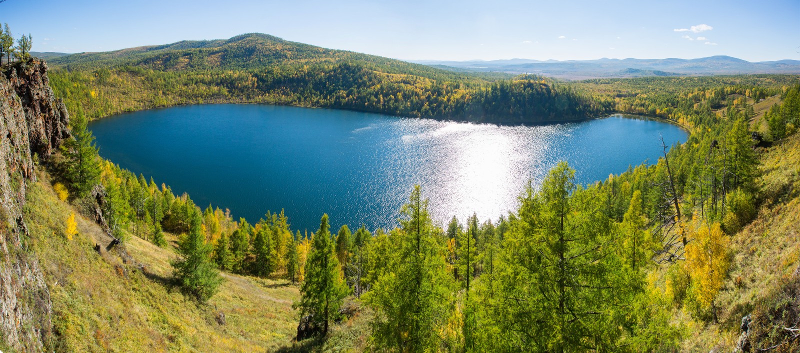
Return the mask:
<path id="1" fill-rule="evenodd" d="M 638 76 L 679 76 L 715 74 L 800 74 L 800 61 L 748 62 L 725 55 L 708 58 L 611 59 L 597 60 L 493 60 L 493 61 L 414 61 L 425 65 L 452 66 L 474 71 L 509 74 L 542 74 L 568 79 L 625 78 Z"/>

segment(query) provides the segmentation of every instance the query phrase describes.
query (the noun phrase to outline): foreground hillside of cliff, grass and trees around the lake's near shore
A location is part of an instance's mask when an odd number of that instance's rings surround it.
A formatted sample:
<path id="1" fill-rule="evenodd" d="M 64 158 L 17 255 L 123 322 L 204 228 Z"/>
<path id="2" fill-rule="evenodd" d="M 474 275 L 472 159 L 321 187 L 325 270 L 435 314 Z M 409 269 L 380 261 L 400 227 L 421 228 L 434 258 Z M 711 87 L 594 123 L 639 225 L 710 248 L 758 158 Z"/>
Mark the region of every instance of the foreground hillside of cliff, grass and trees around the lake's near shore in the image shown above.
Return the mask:
<path id="1" fill-rule="evenodd" d="M 654 165 L 586 186 L 559 163 L 496 222 L 444 228 L 416 187 L 394 229 L 329 231 L 325 215 L 317 234 L 301 235 L 283 212 L 234 221 L 103 161 L 82 110 L 70 116 L 50 90 L 44 62 L 4 69 L 0 305 L 14 310 L 2 311 L 2 351 L 800 344 L 796 76 L 582 82 L 618 110 L 686 126 L 689 139 L 664 146 Z M 95 78 L 117 79 L 103 70 Z M 59 79 L 62 89 L 81 84 Z M 781 105 L 751 130 L 760 99 Z M 186 275 L 172 261 L 192 256 L 208 272 Z M 333 284 L 309 287 L 319 283 Z M 307 332 L 298 321 L 319 333 L 322 320 L 327 335 L 294 339 Z"/>

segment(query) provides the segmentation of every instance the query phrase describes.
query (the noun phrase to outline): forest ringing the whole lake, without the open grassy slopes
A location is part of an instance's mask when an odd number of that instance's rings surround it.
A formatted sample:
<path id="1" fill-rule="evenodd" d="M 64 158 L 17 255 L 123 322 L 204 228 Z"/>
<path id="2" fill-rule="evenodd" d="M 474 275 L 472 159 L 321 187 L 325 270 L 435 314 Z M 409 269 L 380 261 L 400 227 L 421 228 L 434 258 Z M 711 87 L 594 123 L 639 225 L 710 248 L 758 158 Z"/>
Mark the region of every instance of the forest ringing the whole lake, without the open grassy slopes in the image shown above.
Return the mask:
<path id="1" fill-rule="evenodd" d="M 373 315 L 365 343 L 373 351 L 677 351 L 697 323 L 738 328 L 731 318 L 746 309 L 722 307 L 719 295 L 733 271 L 733 236 L 794 192 L 764 187 L 759 170 L 764 146 L 800 123 L 796 76 L 467 79 L 348 52 L 318 58 L 310 46 L 265 54 L 293 45 L 269 39 L 256 46 L 266 50 L 259 60 L 296 54 L 297 62 L 254 69 L 262 62 L 247 61 L 253 53 L 229 50 L 214 65 L 221 43 L 176 43 L 122 58 L 93 54 L 102 64 L 56 61 L 50 79 L 73 114 L 74 138 L 50 166 L 59 198 L 90 207 L 100 184 L 115 239 L 170 247 L 165 232 L 178 235 L 174 278 L 198 305 L 217 293 L 220 271 L 288 279 L 301 297 L 298 341 L 324 339 L 352 315 L 345 303 L 354 299 L 355 310 Z M 780 103 L 756 112 L 768 98 Z M 416 187 L 398 227 L 336 231 L 322 215 L 318 231 L 301 234 L 282 211 L 234 219 L 122 170 L 99 158 L 86 129 L 120 110 L 214 99 L 478 121 L 625 112 L 678 123 L 690 138 L 663 146 L 653 165 L 590 185 L 576 184 L 562 162 L 499 219 L 435 223 Z M 751 342 L 798 349 L 794 331 L 779 329 L 794 318 L 766 317 L 777 302 L 758 305 L 750 309 L 762 326 L 753 324 Z"/>

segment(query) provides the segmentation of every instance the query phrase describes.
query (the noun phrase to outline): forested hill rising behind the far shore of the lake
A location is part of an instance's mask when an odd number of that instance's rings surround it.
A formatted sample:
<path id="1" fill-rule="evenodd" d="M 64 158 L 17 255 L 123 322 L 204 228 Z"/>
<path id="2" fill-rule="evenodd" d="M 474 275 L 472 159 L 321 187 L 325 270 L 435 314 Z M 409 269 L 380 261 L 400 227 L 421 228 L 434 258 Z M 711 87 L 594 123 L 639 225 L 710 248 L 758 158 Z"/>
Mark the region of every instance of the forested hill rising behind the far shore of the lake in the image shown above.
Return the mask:
<path id="1" fill-rule="evenodd" d="M 465 73 L 267 34 L 50 61 L 54 90 L 90 118 L 203 102 L 266 102 L 479 122 L 554 122 L 611 111 L 566 83 Z"/>

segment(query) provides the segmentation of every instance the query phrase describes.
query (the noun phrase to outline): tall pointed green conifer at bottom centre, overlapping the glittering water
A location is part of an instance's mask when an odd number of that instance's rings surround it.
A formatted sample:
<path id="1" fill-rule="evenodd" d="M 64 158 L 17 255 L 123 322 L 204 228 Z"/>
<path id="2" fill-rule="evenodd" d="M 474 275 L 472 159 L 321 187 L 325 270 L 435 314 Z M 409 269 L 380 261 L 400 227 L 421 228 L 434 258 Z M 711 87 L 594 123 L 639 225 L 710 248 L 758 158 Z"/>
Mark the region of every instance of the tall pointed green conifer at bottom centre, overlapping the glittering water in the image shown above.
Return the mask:
<path id="1" fill-rule="evenodd" d="M 447 272 L 442 230 L 434 227 L 419 186 L 400 211 L 387 269 L 364 295 L 374 308 L 374 343 L 398 351 L 434 351 L 454 306 L 453 279 Z M 379 237 L 378 237 L 379 239 Z"/>

